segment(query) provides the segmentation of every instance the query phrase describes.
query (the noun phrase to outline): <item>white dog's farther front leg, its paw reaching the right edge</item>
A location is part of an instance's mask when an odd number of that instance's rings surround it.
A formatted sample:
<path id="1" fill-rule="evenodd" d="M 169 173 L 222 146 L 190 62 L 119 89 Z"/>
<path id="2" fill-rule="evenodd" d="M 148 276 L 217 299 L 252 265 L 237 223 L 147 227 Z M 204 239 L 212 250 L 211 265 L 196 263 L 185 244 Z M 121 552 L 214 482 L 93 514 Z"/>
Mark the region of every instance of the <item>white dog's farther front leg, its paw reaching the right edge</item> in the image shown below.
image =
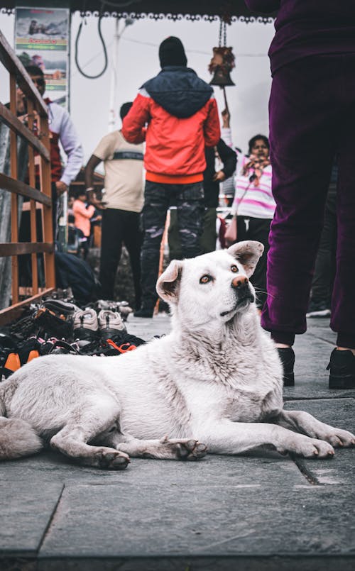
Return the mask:
<path id="1" fill-rule="evenodd" d="M 305 411 L 285 411 L 282 410 L 277 416 L 271 418 L 271 422 L 290 428 L 302 434 L 307 434 L 311 438 L 319 438 L 326 440 L 335 447 L 349 447 L 355 445 L 355 436 L 351 432 L 344 431 L 342 428 L 334 428 L 324 422 L 318 421 L 317 418 Z"/>

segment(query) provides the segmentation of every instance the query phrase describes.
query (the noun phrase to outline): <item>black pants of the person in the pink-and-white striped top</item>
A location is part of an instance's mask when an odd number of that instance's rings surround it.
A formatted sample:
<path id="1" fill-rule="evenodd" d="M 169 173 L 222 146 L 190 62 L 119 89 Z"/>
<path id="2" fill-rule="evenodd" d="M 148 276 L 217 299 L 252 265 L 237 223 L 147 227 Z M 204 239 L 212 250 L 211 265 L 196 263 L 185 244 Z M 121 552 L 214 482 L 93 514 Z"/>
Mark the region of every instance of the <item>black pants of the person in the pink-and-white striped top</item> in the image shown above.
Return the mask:
<path id="1" fill-rule="evenodd" d="M 251 276 L 251 283 L 256 288 L 256 304 L 261 309 L 266 301 L 266 260 L 268 255 L 268 233 L 270 231 L 271 218 L 251 218 L 251 216 L 237 217 L 238 242 L 242 240 L 258 240 L 264 246 L 263 255 L 256 265 L 255 272 Z"/>

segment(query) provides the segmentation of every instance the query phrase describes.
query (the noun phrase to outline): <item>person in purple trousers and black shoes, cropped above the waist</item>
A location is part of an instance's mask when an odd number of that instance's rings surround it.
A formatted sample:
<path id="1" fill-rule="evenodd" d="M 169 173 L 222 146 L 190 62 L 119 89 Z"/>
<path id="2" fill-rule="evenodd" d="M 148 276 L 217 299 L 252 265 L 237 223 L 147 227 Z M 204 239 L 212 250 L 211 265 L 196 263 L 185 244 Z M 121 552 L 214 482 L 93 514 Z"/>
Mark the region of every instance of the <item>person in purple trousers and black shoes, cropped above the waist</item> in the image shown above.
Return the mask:
<path id="1" fill-rule="evenodd" d="M 273 196 L 268 299 L 261 323 L 294 384 L 295 334 L 307 327 L 324 206 L 337 156 L 337 267 L 330 327 L 337 346 L 329 388 L 355 388 L 355 0 L 246 0 L 250 9 L 278 9 L 269 56 Z"/>

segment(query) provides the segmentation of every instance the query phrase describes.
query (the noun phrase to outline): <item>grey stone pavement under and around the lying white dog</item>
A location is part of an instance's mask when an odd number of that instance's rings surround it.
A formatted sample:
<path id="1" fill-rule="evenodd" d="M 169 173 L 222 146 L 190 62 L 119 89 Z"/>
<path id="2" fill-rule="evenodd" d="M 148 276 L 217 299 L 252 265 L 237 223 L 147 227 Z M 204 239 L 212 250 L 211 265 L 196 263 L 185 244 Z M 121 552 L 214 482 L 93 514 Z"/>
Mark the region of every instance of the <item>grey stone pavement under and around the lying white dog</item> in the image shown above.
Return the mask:
<path id="1" fill-rule="evenodd" d="M 131 318 L 166 333 L 169 317 Z M 297 337 L 285 406 L 355 431 L 355 390 L 329 391 L 327 319 Z M 353 571 L 355 450 L 332 460 L 277 453 L 200 462 L 133 459 L 124 472 L 45 452 L 0 465 L 0 570 Z"/>

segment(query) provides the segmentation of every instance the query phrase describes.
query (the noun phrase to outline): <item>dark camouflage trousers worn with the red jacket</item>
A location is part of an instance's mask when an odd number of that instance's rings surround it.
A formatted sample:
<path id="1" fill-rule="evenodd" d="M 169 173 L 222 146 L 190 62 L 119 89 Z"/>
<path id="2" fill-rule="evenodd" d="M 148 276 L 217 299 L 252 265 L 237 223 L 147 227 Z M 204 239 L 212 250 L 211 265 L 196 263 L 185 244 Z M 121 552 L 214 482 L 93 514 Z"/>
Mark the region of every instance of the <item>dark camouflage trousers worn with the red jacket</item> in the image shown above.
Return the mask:
<path id="1" fill-rule="evenodd" d="M 146 181 L 142 211 L 144 235 L 141 255 L 142 296 L 143 306 L 146 308 L 153 309 L 158 299 L 155 284 L 159 271 L 160 243 L 169 206 L 176 205 L 182 256 L 195 257 L 201 253 L 203 202 L 202 182 L 162 184 Z"/>

